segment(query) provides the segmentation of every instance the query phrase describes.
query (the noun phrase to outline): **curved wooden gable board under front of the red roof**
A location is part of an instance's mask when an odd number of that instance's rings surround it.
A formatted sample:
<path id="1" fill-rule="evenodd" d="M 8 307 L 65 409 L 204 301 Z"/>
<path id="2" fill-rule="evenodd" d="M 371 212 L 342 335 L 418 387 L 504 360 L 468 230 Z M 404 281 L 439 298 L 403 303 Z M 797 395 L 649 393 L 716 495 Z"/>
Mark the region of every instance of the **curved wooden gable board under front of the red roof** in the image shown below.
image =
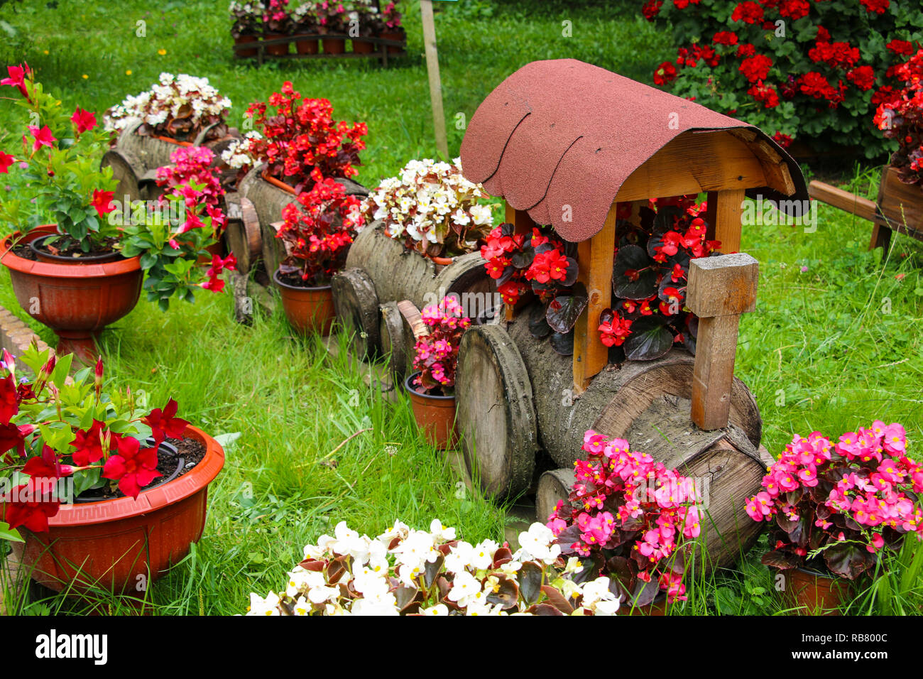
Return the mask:
<path id="1" fill-rule="evenodd" d="M 618 189 L 616 200 L 758 187 L 790 195 L 789 185 L 779 179 L 781 171 L 773 170 L 767 175 L 764 162 L 768 164 L 746 141 L 726 131 L 684 132 L 631 173 Z"/>

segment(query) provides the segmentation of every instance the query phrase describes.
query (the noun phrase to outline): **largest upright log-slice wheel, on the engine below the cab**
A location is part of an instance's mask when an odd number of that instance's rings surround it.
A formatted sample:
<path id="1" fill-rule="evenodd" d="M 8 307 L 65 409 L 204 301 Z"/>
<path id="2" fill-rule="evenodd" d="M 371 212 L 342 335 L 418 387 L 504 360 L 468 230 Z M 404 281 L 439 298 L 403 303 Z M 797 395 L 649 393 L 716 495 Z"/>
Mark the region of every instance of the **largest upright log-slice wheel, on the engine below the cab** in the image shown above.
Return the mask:
<path id="1" fill-rule="evenodd" d="M 503 328 L 482 325 L 462 335 L 455 394 L 465 466 L 475 484 L 498 500 L 526 491 L 538 420 L 529 374 Z"/>

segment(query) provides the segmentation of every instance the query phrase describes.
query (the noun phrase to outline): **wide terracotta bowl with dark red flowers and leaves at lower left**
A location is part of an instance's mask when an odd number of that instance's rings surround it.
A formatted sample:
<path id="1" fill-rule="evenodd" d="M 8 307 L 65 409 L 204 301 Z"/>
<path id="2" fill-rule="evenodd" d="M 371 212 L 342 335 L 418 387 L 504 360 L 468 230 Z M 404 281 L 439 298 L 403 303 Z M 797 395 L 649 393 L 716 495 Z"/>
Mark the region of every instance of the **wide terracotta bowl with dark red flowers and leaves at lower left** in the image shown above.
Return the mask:
<path id="1" fill-rule="evenodd" d="M 173 399 L 148 411 L 130 394 L 103 394 L 102 361 L 66 383 L 71 357 L 33 345 L 19 359 L 34 377 L 4 352 L 0 380 L 13 396 L 6 454 L 26 455 L 8 459 L 4 474 L 17 478 L 0 501 L 0 521 L 23 538 L 16 558 L 56 591 L 139 591 L 140 578 L 162 576 L 201 538 L 221 445 L 177 418 Z"/>

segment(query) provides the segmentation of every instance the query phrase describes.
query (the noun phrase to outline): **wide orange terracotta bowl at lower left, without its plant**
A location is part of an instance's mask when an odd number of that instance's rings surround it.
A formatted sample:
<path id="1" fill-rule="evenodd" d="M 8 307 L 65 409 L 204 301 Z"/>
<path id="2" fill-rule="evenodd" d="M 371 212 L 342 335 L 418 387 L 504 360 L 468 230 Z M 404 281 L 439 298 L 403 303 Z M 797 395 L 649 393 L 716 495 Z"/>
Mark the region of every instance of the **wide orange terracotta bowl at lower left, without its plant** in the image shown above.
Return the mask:
<path id="1" fill-rule="evenodd" d="M 47 533 L 23 530 L 13 543 L 36 582 L 55 591 L 89 588 L 139 595 L 138 586 L 162 576 L 198 542 L 205 528 L 208 486 L 224 466 L 222 446 L 186 425 L 205 443 L 205 456 L 186 475 L 130 497 L 62 504 Z"/>

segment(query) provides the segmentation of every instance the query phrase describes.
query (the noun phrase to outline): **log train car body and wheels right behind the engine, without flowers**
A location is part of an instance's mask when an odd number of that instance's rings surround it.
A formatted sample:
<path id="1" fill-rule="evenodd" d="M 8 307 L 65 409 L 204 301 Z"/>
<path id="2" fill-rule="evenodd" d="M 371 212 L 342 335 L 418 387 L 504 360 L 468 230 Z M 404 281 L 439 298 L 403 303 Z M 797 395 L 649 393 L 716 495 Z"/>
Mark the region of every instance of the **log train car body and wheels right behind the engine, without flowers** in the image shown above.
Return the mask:
<path id="1" fill-rule="evenodd" d="M 356 237 L 345 270 L 333 277 L 337 318 L 347 332 L 354 333 L 355 354 L 360 358 L 390 355 L 392 374 L 400 380 L 413 362 L 419 309 L 452 295 L 468 315 L 476 316 L 497 303 L 496 292 L 479 253 L 436 263 L 386 236 L 380 222 Z M 402 309 L 398 302 L 404 302 Z"/>

